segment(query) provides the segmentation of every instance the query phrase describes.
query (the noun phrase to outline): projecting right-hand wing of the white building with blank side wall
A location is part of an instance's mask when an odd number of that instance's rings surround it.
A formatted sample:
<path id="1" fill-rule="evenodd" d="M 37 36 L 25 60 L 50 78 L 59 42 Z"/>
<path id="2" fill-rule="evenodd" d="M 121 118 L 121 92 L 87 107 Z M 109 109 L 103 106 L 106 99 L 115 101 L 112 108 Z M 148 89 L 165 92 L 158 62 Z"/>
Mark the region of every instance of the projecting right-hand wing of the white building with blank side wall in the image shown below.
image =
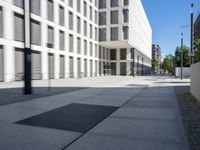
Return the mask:
<path id="1" fill-rule="evenodd" d="M 99 1 L 99 45 L 110 50 L 112 75 L 149 73 L 151 44 L 152 31 L 140 0 Z"/>

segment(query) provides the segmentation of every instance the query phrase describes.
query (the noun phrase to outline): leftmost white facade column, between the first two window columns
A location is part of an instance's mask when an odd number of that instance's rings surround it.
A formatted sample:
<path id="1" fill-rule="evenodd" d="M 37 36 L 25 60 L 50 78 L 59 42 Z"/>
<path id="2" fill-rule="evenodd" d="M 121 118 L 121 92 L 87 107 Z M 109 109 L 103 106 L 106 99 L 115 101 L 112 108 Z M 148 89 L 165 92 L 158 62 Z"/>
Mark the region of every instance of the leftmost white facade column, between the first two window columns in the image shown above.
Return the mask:
<path id="1" fill-rule="evenodd" d="M 8 0 L 7 0 L 8 1 Z M 11 1 L 9 1 L 11 2 Z M 6 45 L 3 45 L 4 49 L 4 81 L 11 82 L 15 80 L 15 51 L 12 46 L 12 40 L 14 39 L 14 16 L 13 11 L 9 7 L 3 8 L 3 26 L 4 37 L 6 39 Z M 8 19 L 9 18 L 9 19 Z M 8 67 L 9 64 L 9 67 Z"/>

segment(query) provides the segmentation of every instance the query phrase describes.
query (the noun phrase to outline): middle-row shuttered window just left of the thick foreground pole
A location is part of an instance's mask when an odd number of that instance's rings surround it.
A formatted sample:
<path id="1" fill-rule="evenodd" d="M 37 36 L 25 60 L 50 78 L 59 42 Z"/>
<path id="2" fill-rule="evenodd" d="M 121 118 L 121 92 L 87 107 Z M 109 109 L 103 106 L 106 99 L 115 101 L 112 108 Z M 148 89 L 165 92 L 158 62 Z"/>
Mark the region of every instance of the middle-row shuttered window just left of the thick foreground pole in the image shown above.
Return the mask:
<path id="1" fill-rule="evenodd" d="M 14 14 L 14 31 L 15 40 L 24 41 L 24 16 L 17 13 Z"/>

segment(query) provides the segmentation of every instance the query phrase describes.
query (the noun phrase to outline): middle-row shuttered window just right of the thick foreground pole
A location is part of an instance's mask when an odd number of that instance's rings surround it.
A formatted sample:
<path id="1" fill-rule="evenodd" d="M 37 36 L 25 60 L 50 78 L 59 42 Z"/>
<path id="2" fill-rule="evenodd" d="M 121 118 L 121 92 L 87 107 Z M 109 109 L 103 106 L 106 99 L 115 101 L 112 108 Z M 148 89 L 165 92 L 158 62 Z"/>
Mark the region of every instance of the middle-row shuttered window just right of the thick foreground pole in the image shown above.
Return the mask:
<path id="1" fill-rule="evenodd" d="M 41 45 L 40 23 L 35 20 L 31 20 L 31 44 Z"/>

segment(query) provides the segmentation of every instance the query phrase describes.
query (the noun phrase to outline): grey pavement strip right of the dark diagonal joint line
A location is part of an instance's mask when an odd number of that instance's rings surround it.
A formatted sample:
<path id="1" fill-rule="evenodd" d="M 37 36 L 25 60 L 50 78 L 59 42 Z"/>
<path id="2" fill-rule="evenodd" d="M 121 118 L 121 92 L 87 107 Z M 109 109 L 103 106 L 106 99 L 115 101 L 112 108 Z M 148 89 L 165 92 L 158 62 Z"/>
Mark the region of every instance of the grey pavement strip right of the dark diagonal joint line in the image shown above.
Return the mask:
<path id="1" fill-rule="evenodd" d="M 189 150 L 171 86 L 145 89 L 66 150 Z"/>

